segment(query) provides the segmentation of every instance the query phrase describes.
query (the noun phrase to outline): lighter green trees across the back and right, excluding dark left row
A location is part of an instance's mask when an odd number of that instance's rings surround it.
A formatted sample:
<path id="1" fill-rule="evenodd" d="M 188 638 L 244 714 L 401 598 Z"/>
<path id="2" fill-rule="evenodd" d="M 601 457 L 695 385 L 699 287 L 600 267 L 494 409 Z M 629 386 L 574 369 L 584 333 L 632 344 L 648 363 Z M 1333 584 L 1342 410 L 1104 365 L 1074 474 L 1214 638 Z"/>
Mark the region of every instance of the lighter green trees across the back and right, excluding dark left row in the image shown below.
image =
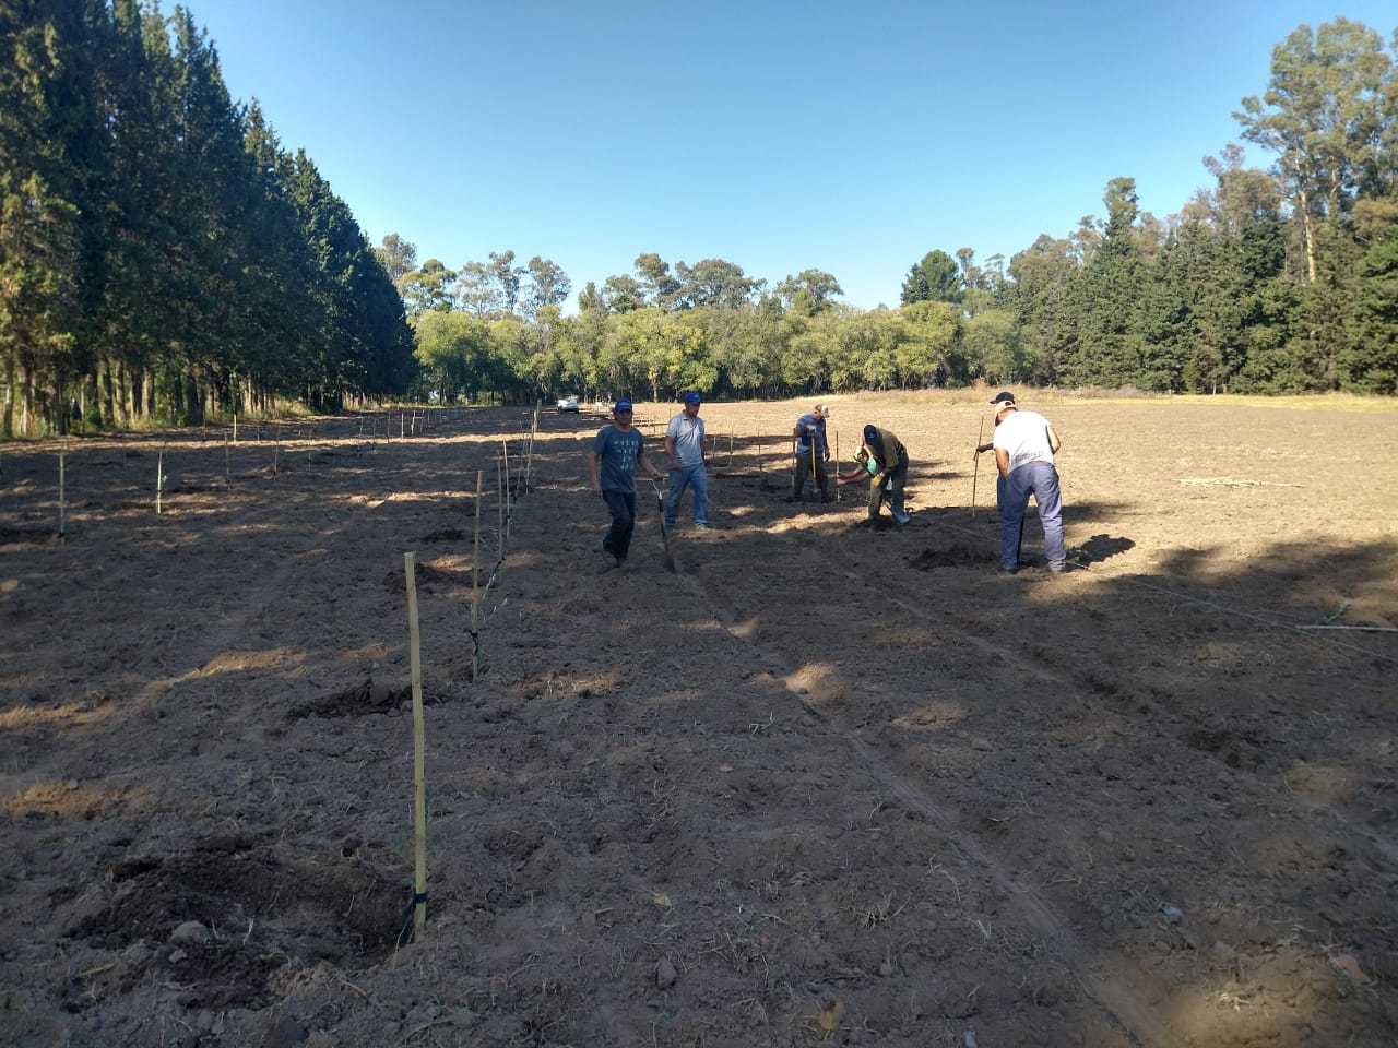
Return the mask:
<path id="1" fill-rule="evenodd" d="M 1134 179 L 1113 179 L 1104 219 L 1040 236 L 1008 265 L 983 268 L 967 247 L 928 252 L 896 310 L 837 305 L 826 272 L 768 293 L 731 263 L 671 270 L 647 253 L 633 274 L 589 284 L 580 314 L 535 307 L 521 323 L 500 310 L 509 274 L 530 279 L 513 253 L 468 265 L 461 288 L 433 260 L 401 281 L 424 365 L 417 391 L 765 397 L 986 379 L 1398 393 L 1392 56 L 1357 22 L 1303 25 L 1274 50 L 1268 91 L 1236 117 L 1244 140 L 1276 154 L 1271 170 L 1243 166 L 1229 145 L 1205 161 L 1213 187 L 1167 221 L 1139 210 Z M 393 240 L 386 253 L 401 247 Z"/>

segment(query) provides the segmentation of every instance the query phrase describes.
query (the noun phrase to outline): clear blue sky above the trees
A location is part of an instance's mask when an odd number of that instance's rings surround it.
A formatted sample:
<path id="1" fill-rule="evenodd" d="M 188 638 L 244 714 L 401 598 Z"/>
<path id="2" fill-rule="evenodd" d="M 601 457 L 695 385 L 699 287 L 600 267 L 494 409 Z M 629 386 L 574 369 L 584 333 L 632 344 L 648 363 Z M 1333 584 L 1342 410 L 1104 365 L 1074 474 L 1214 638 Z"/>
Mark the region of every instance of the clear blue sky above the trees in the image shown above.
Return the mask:
<path id="1" fill-rule="evenodd" d="M 1392 0 L 189 0 L 369 240 L 452 268 L 513 250 L 589 281 L 724 259 L 835 274 L 896 306 L 927 252 L 1067 236 L 1134 177 L 1142 210 L 1211 184 L 1272 48 Z M 1271 157 L 1248 148 L 1250 165 Z"/>

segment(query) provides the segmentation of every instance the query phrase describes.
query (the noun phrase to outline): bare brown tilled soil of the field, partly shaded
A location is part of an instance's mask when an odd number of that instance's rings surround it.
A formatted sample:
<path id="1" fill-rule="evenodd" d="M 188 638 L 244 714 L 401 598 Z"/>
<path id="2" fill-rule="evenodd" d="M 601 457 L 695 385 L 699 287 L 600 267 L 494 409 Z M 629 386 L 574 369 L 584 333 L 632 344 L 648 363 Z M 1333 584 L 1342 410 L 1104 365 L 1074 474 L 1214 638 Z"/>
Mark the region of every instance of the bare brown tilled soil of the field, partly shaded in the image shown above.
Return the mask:
<path id="1" fill-rule="evenodd" d="M 1398 411 L 1028 402 L 1002 576 L 984 400 L 706 404 L 675 572 L 589 411 L 0 449 L 0 1044 L 1398 1042 Z"/>

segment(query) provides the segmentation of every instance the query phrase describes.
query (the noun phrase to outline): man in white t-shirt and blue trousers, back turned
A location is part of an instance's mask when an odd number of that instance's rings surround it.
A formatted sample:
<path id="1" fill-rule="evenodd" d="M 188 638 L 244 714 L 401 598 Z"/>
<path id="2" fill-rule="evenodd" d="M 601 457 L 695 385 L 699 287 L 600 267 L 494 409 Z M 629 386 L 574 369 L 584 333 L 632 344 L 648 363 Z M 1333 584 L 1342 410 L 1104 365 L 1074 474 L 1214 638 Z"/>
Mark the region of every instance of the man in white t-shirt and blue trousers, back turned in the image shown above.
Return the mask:
<path id="1" fill-rule="evenodd" d="M 1061 447 L 1053 423 L 1036 411 L 1021 411 L 1012 400 L 995 407 L 995 464 L 1005 478 L 1000 513 L 1000 570 L 1019 570 L 1019 535 L 1029 496 L 1039 506 L 1044 525 L 1044 556 L 1050 572 L 1068 570 L 1062 541 L 1062 496 L 1054 454 Z"/>

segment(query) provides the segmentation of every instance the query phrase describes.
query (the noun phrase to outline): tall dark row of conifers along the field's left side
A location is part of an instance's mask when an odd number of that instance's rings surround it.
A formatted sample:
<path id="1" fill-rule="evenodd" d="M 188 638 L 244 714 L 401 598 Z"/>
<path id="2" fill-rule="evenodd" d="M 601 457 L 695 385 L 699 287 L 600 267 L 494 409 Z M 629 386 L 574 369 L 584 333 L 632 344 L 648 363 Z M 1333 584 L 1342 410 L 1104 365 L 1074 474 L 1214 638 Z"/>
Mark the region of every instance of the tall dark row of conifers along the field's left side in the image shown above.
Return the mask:
<path id="1" fill-rule="evenodd" d="M 0 0 L 3 435 L 411 381 L 393 281 L 182 7 Z"/>

